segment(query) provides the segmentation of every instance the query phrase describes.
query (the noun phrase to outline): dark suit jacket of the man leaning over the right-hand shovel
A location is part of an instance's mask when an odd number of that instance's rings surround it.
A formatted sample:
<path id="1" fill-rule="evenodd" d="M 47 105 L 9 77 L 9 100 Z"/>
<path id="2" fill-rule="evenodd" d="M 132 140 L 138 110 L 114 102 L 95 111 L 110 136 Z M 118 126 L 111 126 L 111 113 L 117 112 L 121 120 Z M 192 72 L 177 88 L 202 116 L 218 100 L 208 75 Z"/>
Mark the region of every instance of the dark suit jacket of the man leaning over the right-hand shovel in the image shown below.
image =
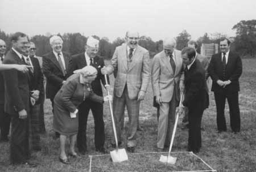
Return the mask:
<path id="1" fill-rule="evenodd" d="M 195 59 L 195 62 L 188 71 L 185 70 L 184 84 L 185 97 L 183 105 L 191 108 L 196 104 L 201 104 L 202 108 L 205 108 L 205 98 L 207 95 L 205 71 L 198 59 Z"/>

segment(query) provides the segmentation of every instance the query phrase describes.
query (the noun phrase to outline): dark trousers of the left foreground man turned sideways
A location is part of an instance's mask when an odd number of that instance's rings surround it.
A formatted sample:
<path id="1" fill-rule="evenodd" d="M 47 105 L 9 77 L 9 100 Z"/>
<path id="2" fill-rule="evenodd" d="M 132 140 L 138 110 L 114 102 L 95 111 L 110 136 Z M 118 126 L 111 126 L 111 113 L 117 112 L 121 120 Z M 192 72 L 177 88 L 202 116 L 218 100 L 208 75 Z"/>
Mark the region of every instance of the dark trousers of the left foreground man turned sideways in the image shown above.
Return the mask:
<path id="1" fill-rule="evenodd" d="M 30 158 L 29 120 L 20 119 L 18 115 L 11 118 L 10 160 L 11 164 L 21 164 Z"/>

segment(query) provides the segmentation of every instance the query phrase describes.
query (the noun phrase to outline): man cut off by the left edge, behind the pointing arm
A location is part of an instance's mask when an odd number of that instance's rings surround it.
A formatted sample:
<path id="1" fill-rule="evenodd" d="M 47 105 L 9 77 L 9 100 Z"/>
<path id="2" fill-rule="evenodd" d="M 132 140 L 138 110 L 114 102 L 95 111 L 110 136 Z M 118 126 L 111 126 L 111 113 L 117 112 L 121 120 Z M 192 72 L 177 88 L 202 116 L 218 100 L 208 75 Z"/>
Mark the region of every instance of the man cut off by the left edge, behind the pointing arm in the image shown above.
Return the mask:
<path id="1" fill-rule="evenodd" d="M 5 59 L 6 44 L 0 39 L 0 64 Z M 0 73 L 0 141 L 9 141 L 8 135 L 10 130 L 11 117 L 5 113 L 3 106 L 5 105 L 5 80 L 3 79 L 3 72 Z"/>

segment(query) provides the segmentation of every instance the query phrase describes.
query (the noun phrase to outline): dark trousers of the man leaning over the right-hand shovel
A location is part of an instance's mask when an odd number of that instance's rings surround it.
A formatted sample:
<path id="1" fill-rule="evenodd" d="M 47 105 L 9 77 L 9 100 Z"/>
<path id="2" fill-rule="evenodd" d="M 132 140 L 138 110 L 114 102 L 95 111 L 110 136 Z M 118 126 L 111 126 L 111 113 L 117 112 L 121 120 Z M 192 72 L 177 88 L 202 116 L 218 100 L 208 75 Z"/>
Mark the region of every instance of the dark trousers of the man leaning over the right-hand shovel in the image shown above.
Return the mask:
<path id="1" fill-rule="evenodd" d="M 199 152 L 201 148 L 201 119 L 204 103 L 188 107 L 188 151 Z"/>

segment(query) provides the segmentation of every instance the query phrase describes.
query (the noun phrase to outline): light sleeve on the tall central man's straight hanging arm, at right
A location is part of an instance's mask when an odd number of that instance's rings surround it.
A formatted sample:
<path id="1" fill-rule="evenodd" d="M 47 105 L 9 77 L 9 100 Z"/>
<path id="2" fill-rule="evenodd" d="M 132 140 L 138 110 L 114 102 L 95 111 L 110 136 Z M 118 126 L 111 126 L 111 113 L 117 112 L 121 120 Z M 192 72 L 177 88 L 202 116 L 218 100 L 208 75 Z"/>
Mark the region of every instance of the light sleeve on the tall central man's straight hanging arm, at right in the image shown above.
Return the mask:
<path id="1" fill-rule="evenodd" d="M 142 84 L 141 84 L 141 91 L 146 92 L 148 83 L 150 81 L 151 72 L 150 72 L 150 58 L 149 53 L 143 54 L 143 67 L 142 67 Z"/>

